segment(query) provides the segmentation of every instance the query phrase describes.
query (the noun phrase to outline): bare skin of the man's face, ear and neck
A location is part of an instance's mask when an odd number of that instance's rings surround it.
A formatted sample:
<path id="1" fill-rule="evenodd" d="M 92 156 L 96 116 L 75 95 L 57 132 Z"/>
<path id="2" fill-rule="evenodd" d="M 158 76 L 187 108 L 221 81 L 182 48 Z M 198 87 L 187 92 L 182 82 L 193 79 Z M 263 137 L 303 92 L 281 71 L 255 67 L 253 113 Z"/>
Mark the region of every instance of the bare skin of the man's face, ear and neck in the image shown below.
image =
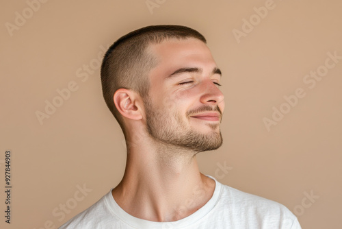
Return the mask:
<path id="1" fill-rule="evenodd" d="M 158 64 L 148 76 L 148 103 L 124 88 L 114 94 L 127 130 L 127 165 L 112 195 L 134 217 L 176 221 L 213 195 L 215 181 L 200 173 L 196 154 L 222 143 L 224 96 L 217 85 L 217 66 L 202 41 L 164 40 L 150 45 L 149 51 Z M 182 68 L 200 71 L 172 74 Z M 189 133 L 200 137 L 204 146 L 182 142 Z"/>

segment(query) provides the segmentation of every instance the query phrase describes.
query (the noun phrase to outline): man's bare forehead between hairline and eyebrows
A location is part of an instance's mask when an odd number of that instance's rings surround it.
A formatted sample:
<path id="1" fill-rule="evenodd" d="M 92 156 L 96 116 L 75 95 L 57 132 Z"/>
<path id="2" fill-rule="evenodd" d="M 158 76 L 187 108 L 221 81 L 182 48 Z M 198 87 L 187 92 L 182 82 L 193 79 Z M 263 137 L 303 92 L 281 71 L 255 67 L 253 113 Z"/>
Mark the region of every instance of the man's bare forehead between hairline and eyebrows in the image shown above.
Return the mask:
<path id="1" fill-rule="evenodd" d="M 207 45 L 196 38 L 164 40 L 148 49 L 157 59 L 157 66 L 151 72 L 158 72 L 157 75 L 171 74 L 183 67 L 208 68 L 210 71 L 216 67 Z"/>

